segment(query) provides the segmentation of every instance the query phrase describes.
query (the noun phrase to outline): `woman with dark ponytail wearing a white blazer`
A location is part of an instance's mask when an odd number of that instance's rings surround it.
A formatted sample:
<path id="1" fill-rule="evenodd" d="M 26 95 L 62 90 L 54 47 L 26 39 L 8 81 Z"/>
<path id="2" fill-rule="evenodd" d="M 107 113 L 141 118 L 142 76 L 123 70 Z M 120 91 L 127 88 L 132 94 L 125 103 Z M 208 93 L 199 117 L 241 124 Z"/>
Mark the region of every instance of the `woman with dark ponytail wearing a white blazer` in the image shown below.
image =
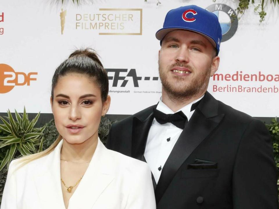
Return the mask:
<path id="1" fill-rule="evenodd" d="M 11 162 L 1 209 L 155 209 L 147 164 L 98 138 L 110 96 L 94 52 L 75 51 L 60 64 L 50 102 L 60 136 L 45 151 Z"/>

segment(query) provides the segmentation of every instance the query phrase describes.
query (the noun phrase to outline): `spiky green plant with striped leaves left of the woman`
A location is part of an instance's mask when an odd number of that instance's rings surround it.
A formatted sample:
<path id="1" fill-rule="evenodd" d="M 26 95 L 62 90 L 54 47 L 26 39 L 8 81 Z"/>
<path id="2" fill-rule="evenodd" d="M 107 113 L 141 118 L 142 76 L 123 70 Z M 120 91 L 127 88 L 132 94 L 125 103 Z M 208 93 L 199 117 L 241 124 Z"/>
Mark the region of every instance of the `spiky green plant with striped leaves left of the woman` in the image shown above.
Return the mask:
<path id="1" fill-rule="evenodd" d="M 0 124 L 0 130 L 6 133 L 7 136 L 0 137 L 1 152 L 6 152 L 1 158 L 0 171 L 5 165 L 9 166 L 10 162 L 16 155 L 28 155 L 42 150 L 43 131 L 45 126 L 34 128 L 40 113 L 30 121 L 25 107 L 23 114 L 17 113 L 15 110 L 16 120 L 12 117 L 12 113 L 8 110 L 6 120 L 0 116 L 4 124 Z"/>

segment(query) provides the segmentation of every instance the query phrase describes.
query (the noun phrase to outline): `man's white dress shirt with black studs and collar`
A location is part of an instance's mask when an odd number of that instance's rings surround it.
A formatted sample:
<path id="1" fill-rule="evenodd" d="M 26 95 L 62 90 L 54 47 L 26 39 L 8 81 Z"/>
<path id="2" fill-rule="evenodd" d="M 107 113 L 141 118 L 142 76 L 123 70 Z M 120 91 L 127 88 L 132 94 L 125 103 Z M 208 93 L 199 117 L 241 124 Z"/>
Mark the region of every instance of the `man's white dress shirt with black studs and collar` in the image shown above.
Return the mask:
<path id="1" fill-rule="evenodd" d="M 191 111 L 192 104 L 201 100 L 203 96 L 176 112 L 182 111 L 189 121 L 195 111 Z M 175 113 L 162 102 L 162 97 L 160 98 L 156 109 L 165 114 Z M 155 118 L 153 119 L 146 141 L 144 157 L 153 173 L 156 183 L 158 183 L 164 164 L 182 131 L 183 129 L 176 127 L 170 122 L 160 124 Z"/>

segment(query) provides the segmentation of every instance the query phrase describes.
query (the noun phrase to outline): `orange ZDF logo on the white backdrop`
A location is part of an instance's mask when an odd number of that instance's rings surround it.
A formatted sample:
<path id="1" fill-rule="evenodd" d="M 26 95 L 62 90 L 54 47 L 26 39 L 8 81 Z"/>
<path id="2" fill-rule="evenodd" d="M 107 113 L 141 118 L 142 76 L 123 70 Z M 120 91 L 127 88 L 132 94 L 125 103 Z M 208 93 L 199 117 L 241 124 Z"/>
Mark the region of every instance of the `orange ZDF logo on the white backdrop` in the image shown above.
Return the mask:
<path id="1" fill-rule="evenodd" d="M 26 75 L 23 72 L 15 72 L 11 66 L 0 64 L 0 93 L 8 93 L 15 86 L 30 86 L 30 81 L 35 81 L 37 78 L 31 78 L 32 75 L 38 73 L 31 72 Z M 33 77 L 33 76 L 32 76 Z"/>

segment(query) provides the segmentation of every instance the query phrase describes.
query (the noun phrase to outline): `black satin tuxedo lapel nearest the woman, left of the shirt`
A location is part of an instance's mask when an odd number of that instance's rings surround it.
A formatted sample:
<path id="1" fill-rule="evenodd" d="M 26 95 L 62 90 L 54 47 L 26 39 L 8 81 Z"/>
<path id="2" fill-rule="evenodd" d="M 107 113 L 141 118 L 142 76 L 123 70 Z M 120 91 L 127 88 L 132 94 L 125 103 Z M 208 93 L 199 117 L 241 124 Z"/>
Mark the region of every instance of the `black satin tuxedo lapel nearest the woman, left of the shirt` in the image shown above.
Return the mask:
<path id="1" fill-rule="evenodd" d="M 144 120 L 133 118 L 132 153 L 131 156 L 141 161 L 144 159 L 144 150 L 149 129 L 153 121 L 153 112 Z M 145 161 L 146 162 L 146 161 Z"/>

